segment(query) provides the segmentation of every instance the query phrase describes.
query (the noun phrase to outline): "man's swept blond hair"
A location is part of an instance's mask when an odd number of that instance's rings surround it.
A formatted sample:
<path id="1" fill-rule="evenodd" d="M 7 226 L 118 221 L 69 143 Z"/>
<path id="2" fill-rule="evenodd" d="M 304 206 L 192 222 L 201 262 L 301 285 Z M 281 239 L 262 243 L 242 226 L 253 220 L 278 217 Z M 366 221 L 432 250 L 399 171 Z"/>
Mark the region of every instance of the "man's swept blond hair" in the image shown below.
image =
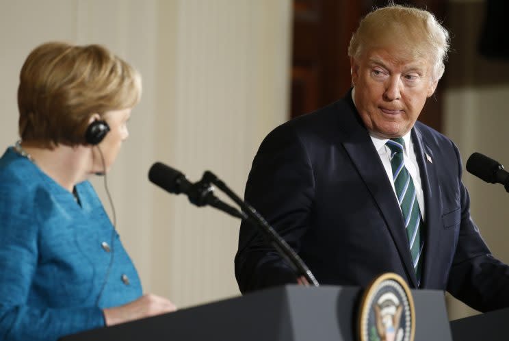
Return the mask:
<path id="1" fill-rule="evenodd" d="M 389 3 L 363 18 L 352 35 L 348 55 L 358 59 L 376 47 L 395 47 L 408 58 L 428 58 L 433 80 L 438 81 L 445 70 L 449 33 L 430 12 Z"/>

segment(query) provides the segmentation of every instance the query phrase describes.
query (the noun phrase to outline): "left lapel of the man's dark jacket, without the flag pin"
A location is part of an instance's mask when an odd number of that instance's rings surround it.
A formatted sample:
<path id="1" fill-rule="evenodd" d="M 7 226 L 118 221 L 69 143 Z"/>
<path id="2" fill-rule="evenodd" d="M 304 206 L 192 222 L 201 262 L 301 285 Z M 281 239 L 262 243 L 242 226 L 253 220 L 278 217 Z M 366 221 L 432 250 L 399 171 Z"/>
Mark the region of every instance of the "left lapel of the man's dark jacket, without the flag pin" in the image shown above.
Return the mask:
<path id="1" fill-rule="evenodd" d="M 393 195 L 391 183 L 387 179 L 378 152 L 367 130 L 361 123 L 351 100 L 350 104 L 351 108 L 341 108 L 340 110 L 342 112 L 340 119 L 341 130 L 345 133 L 342 139 L 343 147 L 348 155 L 350 155 L 354 166 L 376 201 L 396 248 L 400 253 L 407 277 L 413 286 L 416 287 L 417 278 L 413 268 L 410 248 L 408 247 L 408 237 L 406 236 L 400 205 L 397 203 L 395 195 Z M 345 110 L 348 110 L 350 114 L 345 112 Z"/>

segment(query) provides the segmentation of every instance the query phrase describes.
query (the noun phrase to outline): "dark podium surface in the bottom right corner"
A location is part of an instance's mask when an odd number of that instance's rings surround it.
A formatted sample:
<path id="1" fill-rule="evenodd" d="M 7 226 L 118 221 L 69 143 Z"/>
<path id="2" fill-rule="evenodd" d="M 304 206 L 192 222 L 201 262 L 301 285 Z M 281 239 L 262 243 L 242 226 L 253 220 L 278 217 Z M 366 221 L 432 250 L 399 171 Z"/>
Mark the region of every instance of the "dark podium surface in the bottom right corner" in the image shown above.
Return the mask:
<path id="1" fill-rule="evenodd" d="M 509 308 L 451 321 L 454 340 L 460 341 L 507 341 L 509 332 Z"/>

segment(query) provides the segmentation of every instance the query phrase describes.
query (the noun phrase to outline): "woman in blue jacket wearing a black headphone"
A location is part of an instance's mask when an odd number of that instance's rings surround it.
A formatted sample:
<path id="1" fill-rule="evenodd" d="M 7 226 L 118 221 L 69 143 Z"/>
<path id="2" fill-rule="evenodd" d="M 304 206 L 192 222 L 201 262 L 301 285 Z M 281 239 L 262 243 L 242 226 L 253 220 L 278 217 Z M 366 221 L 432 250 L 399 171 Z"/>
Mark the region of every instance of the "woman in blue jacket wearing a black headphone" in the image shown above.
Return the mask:
<path id="1" fill-rule="evenodd" d="M 127 138 L 141 78 L 99 45 L 40 45 L 21 69 L 19 134 L 0 158 L 0 340 L 57 340 L 171 312 L 87 179 Z"/>

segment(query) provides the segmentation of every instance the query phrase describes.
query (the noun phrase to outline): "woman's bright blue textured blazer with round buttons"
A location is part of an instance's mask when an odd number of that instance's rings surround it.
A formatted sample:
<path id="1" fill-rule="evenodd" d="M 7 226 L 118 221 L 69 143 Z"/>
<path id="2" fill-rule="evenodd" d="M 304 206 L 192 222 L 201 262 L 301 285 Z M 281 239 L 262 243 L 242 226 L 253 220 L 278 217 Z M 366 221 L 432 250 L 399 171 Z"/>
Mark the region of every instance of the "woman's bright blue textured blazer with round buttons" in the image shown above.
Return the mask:
<path id="1" fill-rule="evenodd" d="M 0 340 L 57 340 L 103 327 L 102 308 L 141 296 L 92 186 L 76 191 L 79 203 L 12 148 L 1 157 Z"/>

